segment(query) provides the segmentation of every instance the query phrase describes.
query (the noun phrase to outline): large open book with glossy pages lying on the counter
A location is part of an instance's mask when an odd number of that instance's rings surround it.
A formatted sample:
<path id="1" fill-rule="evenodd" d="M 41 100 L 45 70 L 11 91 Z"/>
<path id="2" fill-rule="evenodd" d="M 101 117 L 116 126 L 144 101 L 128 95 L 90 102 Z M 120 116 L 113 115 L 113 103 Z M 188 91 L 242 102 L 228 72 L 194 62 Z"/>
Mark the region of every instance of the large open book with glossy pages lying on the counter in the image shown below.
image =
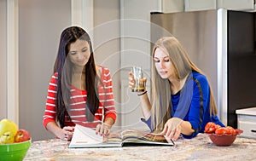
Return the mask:
<path id="1" fill-rule="evenodd" d="M 79 124 L 73 132 L 73 138 L 68 147 L 124 147 L 124 146 L 173 146 L 172 140 L 164 135 L 145 133 L 137 129 L 123 129 L 116 134 L 108 136 L 96 135 L 94 129 Z"/>

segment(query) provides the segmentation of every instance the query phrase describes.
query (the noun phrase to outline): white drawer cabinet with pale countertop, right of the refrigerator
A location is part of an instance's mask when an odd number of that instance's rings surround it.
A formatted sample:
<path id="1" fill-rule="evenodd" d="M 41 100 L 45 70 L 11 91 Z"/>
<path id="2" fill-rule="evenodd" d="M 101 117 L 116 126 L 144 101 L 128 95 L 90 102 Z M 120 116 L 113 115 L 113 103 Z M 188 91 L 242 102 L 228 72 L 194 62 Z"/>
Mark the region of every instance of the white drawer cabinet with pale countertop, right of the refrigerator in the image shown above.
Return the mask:
<path id="1" fill-rule="evenodd" d="M 236 110 L 238 129 L 242 129 L 241 136 L 256 139 L 256 107 Z"/>

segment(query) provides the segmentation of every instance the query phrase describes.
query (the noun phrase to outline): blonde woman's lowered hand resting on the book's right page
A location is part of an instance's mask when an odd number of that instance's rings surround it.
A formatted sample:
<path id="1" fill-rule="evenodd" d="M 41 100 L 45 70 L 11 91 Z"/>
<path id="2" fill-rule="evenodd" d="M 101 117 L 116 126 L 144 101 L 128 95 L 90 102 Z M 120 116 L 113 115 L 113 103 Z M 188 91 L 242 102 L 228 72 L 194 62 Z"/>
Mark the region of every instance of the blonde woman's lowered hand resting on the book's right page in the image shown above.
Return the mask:
<path id="1" fill-rule="evenodd" d="M 167 120 L 160 135 L 166 135 L 167 138 L 176 141 L 181 134 L 183 120 L 180 118 L 170 118 Z"/>

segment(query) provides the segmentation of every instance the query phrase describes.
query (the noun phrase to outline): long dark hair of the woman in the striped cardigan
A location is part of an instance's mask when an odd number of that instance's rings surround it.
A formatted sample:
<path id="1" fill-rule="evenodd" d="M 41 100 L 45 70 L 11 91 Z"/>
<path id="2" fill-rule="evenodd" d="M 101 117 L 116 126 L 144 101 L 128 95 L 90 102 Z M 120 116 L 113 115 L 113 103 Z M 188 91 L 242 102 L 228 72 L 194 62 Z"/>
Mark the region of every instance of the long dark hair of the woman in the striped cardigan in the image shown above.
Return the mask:
<path id="1" fill-rule="evenodd" d="M 54 66 L 54 72 L 58 73 L 55 100 L 56 116 L 61 128 L 65 126 L 65 116 L 70 119 L 68 110 L 70 101 L 70 85 L 72 81 L 72 65 L 67 66 L 68 62 L 71 64 L 70 60 L 67 59 L 67 55 L 69 53 L 70 44 L 75 43 L 78 39 L 84 40 L 90 45 L 90 58 L 84 66 L 85 87 L 87 90 L 86 107 L 84 107 L 88 121 L 92 122 L 94 120 L 94 115 L 99 107 L 97 85 L 100 82 L 100 78 L 96 74 L 96 65 L 93 57 L 90 36 L 79 26 L 67 27 L 61 33 L 58 55 Z"/>

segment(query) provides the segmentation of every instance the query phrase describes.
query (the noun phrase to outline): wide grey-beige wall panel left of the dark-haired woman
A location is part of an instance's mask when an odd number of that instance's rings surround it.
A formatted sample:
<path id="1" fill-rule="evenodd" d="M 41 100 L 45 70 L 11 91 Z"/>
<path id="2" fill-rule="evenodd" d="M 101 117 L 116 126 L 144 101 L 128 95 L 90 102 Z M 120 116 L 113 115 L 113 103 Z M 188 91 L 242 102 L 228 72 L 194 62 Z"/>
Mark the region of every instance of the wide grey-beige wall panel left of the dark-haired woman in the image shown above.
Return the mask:
<path id="1" fill-rule="evenodd" d="M 70 0 L 19 0 L 20 128 L 49 137 L 42 118 L 61 32 L 71 24 Z"/>

